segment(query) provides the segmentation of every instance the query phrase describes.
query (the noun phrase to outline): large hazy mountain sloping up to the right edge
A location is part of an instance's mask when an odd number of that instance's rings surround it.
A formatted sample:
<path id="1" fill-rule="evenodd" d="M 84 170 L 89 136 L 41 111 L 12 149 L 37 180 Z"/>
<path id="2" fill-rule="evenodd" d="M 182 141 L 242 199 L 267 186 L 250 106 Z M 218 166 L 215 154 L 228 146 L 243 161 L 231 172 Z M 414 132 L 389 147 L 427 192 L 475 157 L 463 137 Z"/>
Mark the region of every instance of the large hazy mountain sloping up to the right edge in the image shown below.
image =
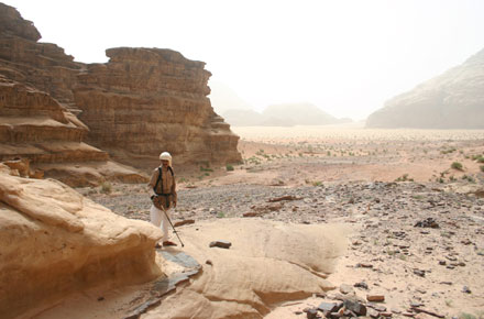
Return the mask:
<path id="1" fill-rule="evenodd" d="M 484 50 L 388 100 L 366 128 L 484 129 Z"/>

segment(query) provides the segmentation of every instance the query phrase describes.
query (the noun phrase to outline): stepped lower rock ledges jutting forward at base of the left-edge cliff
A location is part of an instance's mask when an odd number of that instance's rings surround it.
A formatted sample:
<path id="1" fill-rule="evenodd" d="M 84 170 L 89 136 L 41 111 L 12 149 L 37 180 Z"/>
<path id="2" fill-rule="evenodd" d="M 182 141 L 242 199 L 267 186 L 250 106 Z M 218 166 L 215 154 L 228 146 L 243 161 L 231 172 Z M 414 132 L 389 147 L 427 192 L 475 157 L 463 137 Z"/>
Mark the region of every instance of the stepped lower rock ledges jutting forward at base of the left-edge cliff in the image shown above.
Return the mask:
<path id="1" fill-rule="evenodd" d="M 29 160 L 32 172 L 24 175 L 45 172 L 46 177 L 72 186 L 96 185 L 103 179 L 146 180 L 139 172 L 110 162 L 108 153 L 84 143 L 87 132 L 87 127 L 50 95 L 0 76 L 0 161 Z"/>

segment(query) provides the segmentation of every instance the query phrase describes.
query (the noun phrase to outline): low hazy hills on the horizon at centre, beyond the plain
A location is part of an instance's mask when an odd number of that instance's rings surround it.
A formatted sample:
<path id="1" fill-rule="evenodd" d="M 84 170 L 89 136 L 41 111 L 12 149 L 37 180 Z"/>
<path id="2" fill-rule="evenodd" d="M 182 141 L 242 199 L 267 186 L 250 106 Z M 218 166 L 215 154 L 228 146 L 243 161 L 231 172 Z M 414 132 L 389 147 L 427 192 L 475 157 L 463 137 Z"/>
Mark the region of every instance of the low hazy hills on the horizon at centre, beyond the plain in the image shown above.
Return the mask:
<path id="1" fill-rule="evenodd" d="M 351 119 L 337 119 L 311 103 L 274 105 L 262 113 L 253 110 L 228 110 L 222 116 L 228 123 L 238 127 L 327 125 L 351 122 Z"/>

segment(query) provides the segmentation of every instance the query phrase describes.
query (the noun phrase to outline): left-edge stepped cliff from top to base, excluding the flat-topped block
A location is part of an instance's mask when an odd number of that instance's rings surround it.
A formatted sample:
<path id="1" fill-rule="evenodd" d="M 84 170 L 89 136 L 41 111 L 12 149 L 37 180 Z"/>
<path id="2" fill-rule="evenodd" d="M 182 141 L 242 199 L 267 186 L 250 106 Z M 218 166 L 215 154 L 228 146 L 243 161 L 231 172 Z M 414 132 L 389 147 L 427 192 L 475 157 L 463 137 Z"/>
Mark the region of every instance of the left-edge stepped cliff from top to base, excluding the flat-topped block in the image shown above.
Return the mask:
<path id="1" fill-rule="evenodd" d="M 72 90 L 84 66 L 40 37 L 32 22 L 0 3 L 0 161 L 25 158 L 33 169 L 72 186 L 145 182 L 84 142 L 89 130 L 73 113 Z"/>

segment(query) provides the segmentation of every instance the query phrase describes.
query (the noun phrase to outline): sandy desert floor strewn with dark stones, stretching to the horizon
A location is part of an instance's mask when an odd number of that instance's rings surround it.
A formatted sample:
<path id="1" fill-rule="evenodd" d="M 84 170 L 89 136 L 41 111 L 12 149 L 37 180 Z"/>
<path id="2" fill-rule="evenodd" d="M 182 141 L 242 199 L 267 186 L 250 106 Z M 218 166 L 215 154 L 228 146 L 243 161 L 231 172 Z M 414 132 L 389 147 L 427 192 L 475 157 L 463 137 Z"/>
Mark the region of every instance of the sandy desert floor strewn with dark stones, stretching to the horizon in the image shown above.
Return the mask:
<path id="1" fill-rule="evenodd" d="M 383 295 L 384 302 L 367 305 L 394 318 L 484 318 L 484 131 L 233 131 L 242 164 L 186 168 L 174 158 L 174 222 L 249 213 L 354 230 L 328 278 L 339 288 L 326 298 L 288 300 L 266 318 L 306 318 L 305 309 L 342 295 L 365 302 L 367 295 Z M 148 220 L 142 185 L 79 191 L 117 213 Z M 283 196 L 290 199 L 268 202 Z"/>

